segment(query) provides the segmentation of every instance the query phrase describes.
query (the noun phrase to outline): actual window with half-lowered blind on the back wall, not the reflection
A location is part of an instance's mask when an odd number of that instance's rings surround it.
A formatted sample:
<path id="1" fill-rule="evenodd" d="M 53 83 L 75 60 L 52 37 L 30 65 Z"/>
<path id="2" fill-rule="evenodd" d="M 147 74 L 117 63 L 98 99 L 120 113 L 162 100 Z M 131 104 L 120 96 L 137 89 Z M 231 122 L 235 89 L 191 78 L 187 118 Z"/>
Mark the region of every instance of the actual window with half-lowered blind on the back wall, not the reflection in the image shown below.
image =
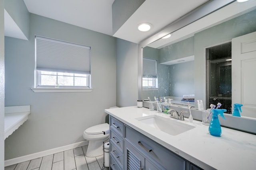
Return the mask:
<path id="1" fill-rule="evenodd" d="M 90 47 L 36 36 L 36 88 L 90 88 Z"/>

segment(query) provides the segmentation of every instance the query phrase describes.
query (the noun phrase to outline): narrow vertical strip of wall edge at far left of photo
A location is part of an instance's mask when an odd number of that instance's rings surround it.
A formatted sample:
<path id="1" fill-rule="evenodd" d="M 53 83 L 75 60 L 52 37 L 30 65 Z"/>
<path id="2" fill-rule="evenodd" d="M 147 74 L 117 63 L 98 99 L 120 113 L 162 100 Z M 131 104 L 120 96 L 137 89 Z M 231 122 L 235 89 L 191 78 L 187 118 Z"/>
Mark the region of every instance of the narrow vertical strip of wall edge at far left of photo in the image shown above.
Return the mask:
<path id="1" fill-rule="evenodd" d="M 4 0 L 0 0 L 0 169 L 4 169 Z"/>

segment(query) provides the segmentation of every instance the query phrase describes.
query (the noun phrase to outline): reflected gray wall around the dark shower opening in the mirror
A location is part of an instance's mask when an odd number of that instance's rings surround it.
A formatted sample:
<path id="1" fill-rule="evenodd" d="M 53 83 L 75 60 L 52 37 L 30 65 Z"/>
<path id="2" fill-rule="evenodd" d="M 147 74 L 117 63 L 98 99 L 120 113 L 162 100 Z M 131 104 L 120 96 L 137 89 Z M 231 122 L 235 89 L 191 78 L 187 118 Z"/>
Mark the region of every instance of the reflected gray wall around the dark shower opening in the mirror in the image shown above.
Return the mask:
<path id="1" fill-rule="evenodd" d="M 229 41 L 234 37 L 256 31 L 256 10 L 226 21 L 194 35 L 195 101 L 206 101 L 205 47 Z M 204 103 L 205 108 L 205 103 Z"/>

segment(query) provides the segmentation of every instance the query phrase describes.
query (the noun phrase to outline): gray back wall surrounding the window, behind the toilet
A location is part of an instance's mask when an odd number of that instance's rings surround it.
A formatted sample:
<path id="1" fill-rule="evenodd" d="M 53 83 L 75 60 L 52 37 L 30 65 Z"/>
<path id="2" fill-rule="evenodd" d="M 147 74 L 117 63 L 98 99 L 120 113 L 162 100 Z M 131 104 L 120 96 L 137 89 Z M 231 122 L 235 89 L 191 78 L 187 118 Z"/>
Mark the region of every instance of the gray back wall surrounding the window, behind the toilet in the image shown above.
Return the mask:
<path id="1" fill-rule="evenodd" d="M 90 46 L 92 92 L 34 93 L 35 35 Z M 5 106 L 31 105 L 28 121 L 5 140 L 5 160 L 84 141 L 83 131 L 116 105 L 116 38 L 35 14 L 29 37 L 5 37 Z"/>

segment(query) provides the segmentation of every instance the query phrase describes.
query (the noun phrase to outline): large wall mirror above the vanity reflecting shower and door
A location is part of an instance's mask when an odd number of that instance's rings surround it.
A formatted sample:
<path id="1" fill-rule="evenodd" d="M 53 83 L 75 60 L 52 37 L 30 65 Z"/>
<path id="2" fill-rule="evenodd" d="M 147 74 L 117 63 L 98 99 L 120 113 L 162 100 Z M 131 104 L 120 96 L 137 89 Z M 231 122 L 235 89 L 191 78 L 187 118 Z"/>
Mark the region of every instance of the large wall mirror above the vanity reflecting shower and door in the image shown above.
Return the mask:
<path id="1" fill-rule="evenodd" d="M 148 39 L 147 45 L 141 43 L 142 100 L 154 96 L 181 104 L 186 99 L 192 104 L 202 100 L 204 109 L 220 102 L 227 113 L 232 113 L 234 103 L 242 103 L 241 115 L 256 119 L 255 0 L 234 1 L 170 35 L 154 42 L 150 42 L 154 38 Z M 155 74 L 145 69 L 149 59 L 156 63 Z"/>

